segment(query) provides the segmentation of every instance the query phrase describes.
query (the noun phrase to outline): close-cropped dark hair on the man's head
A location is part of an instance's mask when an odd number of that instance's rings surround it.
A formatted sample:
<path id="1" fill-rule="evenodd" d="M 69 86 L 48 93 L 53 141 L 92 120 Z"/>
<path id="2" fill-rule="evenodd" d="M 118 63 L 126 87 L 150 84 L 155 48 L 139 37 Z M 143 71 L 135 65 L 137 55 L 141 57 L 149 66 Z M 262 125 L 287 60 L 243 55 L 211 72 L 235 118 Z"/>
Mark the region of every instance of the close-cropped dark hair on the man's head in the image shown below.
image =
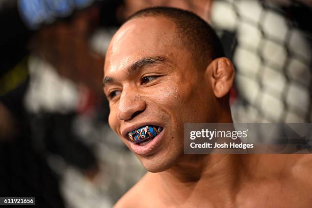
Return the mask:
<path id="1" fill-rule="evenodd" d="M 213 28 L 190 11 L 170 7 L 147 8 L 134 13 L 126 22 L 139 17 L 158 16 L 174 22 L 180 47 L 191 52 L 199 68 L 205 68 L 212 60 L 225 56 L 222 43 Z"/>

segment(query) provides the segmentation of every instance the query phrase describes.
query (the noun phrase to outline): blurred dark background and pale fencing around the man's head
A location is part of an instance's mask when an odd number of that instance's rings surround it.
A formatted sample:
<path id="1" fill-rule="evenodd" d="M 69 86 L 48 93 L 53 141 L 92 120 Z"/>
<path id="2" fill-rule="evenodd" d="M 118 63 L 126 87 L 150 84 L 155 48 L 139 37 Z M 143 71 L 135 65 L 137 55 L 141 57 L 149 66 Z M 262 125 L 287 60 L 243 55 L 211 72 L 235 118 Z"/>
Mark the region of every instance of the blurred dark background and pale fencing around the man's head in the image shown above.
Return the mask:
<path id="1" fill-rule="evenodd" d="M 311 123 L 312 1 L 0 0 L 0 196 L 112 207 L 145 173 L 109 128 L 105 53 L 134 12 L 187 9 L 236 66 L 237 123 Z"/>

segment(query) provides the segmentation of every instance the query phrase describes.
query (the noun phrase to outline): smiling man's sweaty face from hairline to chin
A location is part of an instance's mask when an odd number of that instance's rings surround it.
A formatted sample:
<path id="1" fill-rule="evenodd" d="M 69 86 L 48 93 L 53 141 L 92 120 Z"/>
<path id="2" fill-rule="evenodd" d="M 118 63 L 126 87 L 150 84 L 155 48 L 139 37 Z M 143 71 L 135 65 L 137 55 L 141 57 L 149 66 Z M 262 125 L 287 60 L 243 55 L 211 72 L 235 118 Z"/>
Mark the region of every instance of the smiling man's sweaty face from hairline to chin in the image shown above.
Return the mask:
<path id="1" fill-rule="evenodd" d="M 210 80 L 176 41 L 165 17 L 126 22 L 113 37 L 104 67 L 109 124 L 150 172 L 175 165 L 184 153 L 184 123 L 212 121 Z M 147 143 L 129 141 L 140 127 L 161 127 Z"/>

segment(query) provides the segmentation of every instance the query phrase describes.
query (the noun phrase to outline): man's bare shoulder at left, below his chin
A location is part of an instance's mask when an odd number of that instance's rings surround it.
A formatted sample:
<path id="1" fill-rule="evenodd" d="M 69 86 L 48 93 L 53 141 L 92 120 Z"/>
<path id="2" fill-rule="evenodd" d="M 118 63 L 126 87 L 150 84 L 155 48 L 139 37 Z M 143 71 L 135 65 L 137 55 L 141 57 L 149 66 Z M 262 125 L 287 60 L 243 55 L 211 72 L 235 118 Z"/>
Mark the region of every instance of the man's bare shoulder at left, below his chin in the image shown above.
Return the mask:
<path id="1" fill-rule="evenodd" d="M 127 191 L 114 205 L 115 208 L 122 207 L 149 207 L 151 194 L 155 189 L 153 184 L 153 173 L 146 173 L 129 191 Z M 144 197 L 143 197 L 144 196 Z"/>

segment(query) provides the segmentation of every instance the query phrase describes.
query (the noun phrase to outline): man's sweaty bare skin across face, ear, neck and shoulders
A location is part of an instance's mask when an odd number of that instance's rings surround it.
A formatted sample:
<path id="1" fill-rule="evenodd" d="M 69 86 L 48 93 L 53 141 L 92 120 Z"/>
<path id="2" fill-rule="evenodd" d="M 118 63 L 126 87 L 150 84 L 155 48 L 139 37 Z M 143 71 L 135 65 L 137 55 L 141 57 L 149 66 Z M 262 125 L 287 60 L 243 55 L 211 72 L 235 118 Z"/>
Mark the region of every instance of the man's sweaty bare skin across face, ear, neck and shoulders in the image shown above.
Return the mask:
<path id="1" fill-rule="evenodd" d="M 104 67 L 109 124 L 149 171 L 115 207 L 311 207 L 310 155 L 184 155 L 184 123 L 231 123 L 226 58 L 198 70 L 165 17 L 126 22 Z M 163 127 L 144 151 L 126 133 Z M 152 143 L 152 142 L 151 142 Z"/>

